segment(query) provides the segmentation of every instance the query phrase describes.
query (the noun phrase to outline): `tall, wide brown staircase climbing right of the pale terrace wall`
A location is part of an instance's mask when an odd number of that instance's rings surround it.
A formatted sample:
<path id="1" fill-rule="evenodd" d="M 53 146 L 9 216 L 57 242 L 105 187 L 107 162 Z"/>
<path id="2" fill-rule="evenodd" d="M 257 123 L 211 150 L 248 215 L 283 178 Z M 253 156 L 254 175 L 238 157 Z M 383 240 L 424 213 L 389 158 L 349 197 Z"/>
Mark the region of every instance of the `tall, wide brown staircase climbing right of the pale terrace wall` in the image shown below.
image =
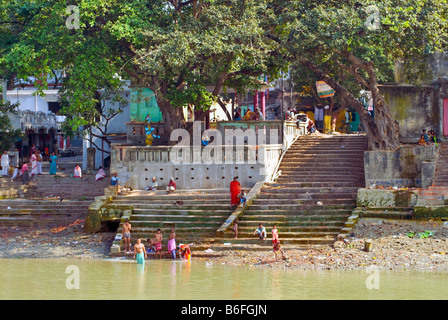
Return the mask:
<path id="1" fill-rule="evenodd" d="M 274 183 L 266 184 L 238 218 L 238 239 L 227 231 L 216 242 L 271 246 L 275 224 L 282 244 L 327 245 L 341 233 L 364 187 L 365 136 L 305 136 L 285 153 Z M 262 223 L 268 240 L 253 235 Z"/>

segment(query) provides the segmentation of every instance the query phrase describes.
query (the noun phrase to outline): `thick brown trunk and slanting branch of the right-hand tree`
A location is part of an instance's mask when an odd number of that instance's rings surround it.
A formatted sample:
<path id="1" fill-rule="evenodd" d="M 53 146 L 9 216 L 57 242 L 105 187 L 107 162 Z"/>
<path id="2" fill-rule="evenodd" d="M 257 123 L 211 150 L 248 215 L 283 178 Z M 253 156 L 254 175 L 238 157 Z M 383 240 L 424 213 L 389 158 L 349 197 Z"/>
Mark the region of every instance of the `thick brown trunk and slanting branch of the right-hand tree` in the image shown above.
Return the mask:
<path id="1" fill-rule="evenodd" d="M 394 150 L 400 146 L 398 122 L 393 120 L 389 106 L 379 95 L 377 85 L 370 86 L 375 106 L 375 116 L 373 118 L 358 99 L 331 76 L 320 70 L 318 66 L 307 60 L 301 60 L 300 63 L 311 70 L 319 79 L 325 81 L 348 104 L 355 108 L 366 131 L 370 150 Z"/>

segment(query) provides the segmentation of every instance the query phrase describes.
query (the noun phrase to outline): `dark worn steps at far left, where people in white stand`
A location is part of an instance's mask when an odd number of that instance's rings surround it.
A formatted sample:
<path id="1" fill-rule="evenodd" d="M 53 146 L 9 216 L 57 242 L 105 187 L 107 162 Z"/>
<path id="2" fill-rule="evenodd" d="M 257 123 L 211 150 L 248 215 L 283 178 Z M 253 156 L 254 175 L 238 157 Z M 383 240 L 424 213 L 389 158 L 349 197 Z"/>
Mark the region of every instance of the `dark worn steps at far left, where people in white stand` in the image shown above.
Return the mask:
<path id="1" fill-rule="evenodd" d="M 4 177 L 0 183 L 0 227 L 45 227 L 85 219 L 93 199 L 104 195 L 108 180 L 59 173 L 38 175 L 29 185 Z"/>

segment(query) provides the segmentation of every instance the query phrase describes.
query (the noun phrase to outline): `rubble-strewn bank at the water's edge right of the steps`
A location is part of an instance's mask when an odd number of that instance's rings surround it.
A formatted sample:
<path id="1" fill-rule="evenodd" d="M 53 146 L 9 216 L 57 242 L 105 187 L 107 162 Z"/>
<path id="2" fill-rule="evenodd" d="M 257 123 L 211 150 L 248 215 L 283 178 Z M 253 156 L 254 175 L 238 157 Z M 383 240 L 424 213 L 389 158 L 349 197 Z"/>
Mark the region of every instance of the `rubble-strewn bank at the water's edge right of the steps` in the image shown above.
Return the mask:
<path id="1" fill-rule="evenodd" d="M 280 241 L 281 241 L 281 231 Z M 364 250 L 365 241 L 372 244 Z M 443 221 L 360 220 L 344 243 L 333 247 L 291 250 L 275 260 L 270 252 L 235 251 L 218 263 L 253 268 L 299 270 L 414 270 L 448 272 L 448 224 Z"/>

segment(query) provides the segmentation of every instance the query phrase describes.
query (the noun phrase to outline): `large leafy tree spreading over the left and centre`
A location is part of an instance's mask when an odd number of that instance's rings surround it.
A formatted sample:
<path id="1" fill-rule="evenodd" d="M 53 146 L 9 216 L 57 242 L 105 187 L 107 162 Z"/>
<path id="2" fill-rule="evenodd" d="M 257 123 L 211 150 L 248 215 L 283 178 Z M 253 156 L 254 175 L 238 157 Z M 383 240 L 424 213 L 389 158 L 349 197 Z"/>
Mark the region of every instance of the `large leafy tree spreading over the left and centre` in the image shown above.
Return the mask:
<path id="1" fill-rule="evenodd" d="M 19 26 L 16 40 L 1 48 L 0 67 L 41 80 L 64 70 L 62 111 L 74 130 L 96 124 L 96 93 L 119 91 L 120 77 L 156 93 L 170 132 L 187 125 L 181 106 L 193 104 L 205 116 L 213 102 L 223 106 L 223 88 L 255 88 L 258 76 L 283 65 L 260 24 L 264 1 L 78 0 L 79 28 L 67 28 L 65 20 L 77 17 L 69 17 L 65 0 L 0 3 L 1 22 Z"/>

